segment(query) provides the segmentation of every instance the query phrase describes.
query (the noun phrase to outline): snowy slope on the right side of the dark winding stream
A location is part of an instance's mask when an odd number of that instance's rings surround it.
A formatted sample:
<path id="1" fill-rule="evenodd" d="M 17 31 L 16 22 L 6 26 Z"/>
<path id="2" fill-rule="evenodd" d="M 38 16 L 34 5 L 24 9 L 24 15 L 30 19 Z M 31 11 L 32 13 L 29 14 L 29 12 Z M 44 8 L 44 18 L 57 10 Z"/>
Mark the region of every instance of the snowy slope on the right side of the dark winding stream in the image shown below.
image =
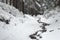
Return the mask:
<path id="1" fill-rule="evenodd" d="M 60 40 L 60 8 L 57 7 L 44 16 L 38 15 L 37 17 L 41 17 L 40 21 L 50 24 L 45 26 L 47 31 L 41 34 L 42 38 L 40 40 Z"/>

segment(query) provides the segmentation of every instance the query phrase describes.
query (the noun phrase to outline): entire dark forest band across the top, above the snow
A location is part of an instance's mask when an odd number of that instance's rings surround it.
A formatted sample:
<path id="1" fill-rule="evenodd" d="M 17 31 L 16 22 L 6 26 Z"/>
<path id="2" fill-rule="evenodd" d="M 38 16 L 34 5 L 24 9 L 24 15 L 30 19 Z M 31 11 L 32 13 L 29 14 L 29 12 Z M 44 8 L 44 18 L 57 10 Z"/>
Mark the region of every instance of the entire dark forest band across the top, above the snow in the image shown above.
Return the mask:
<path id="1" fill-rule="evenodd" d="M 1 0 L 30 15 L 43 15 L 45 10 L 60 6 L 60 0 Z"/>

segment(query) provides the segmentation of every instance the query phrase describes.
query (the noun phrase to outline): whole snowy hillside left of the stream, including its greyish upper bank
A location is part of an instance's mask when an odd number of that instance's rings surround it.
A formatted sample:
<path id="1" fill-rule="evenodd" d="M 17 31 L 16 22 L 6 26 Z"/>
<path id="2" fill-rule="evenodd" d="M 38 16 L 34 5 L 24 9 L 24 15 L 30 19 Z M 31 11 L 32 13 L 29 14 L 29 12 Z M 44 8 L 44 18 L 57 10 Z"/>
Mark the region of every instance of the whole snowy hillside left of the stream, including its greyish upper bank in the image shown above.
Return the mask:
<path id="1" fill-rule="evenodd" d="M 24 16 L 14 7 L 0 3 L 0 40 L 32 40 L 29 35 L 39 29 L 32 16 Z"/>

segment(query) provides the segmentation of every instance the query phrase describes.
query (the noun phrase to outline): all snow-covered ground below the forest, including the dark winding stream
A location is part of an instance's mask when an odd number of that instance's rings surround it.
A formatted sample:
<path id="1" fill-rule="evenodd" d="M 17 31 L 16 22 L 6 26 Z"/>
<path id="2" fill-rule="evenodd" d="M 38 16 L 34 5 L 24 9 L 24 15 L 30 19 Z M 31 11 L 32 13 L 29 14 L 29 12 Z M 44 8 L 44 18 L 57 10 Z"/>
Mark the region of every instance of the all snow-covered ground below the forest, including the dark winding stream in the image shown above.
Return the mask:
<path id="1" fill-rule="evenodd" d="M 0 3 L 0 40 L 60 40 L 59 10 L 33 17 Z"/>

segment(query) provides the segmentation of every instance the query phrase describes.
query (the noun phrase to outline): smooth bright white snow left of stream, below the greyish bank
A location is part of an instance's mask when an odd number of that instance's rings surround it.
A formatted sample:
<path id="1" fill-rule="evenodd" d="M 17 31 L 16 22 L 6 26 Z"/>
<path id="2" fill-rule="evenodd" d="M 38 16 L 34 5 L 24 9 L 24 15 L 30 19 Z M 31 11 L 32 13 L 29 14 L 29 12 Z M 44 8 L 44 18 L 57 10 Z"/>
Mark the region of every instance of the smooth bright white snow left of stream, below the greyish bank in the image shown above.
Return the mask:
<path id="1" fill-rule="evenodd" d="M 39 30 L 39 23 L 35 20 L 25 18 L 24 19 L 14 17 L 12 15 L 8 16 L 9 14 L 5 15 L 10 20 L 9 24 L 5 22 L 0 23 L 0 40 L 31 40 L 29 35 Z M 2 13 L 2 17 L 5 17 Z M 7 20 L 6 19 L 6 20 Z M 21 22 L 23 21 L 23 22 Z"/>

